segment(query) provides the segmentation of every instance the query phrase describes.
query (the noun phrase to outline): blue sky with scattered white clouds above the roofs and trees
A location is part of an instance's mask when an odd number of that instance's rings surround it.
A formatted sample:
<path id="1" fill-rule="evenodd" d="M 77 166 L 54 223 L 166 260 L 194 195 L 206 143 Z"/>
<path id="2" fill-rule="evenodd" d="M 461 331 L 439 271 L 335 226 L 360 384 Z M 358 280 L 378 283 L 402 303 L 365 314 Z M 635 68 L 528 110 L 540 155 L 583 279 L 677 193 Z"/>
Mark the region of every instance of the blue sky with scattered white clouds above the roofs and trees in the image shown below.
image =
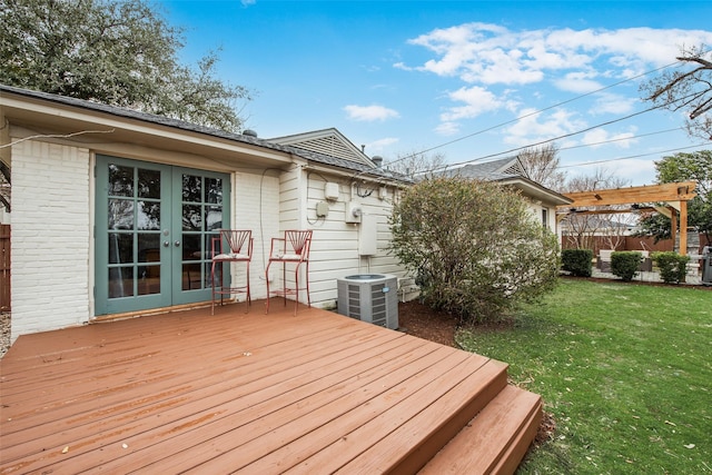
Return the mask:
<path id="1" fill-rule="evenodd" d="M 712 148 L 682 113 L 623 119 L 651 107 L 639 86 L 654 75 L 637 76 L 712 47 L 710 1 L 159 3 L 185 28 L 184 61 L 220 49 L 219 77 L 255 92 L 241 116 L 261 138 L 334 127 L 386 162 L 464 164 L 563 137 L 563 171 L 634 186 L 668 150 Z"/>

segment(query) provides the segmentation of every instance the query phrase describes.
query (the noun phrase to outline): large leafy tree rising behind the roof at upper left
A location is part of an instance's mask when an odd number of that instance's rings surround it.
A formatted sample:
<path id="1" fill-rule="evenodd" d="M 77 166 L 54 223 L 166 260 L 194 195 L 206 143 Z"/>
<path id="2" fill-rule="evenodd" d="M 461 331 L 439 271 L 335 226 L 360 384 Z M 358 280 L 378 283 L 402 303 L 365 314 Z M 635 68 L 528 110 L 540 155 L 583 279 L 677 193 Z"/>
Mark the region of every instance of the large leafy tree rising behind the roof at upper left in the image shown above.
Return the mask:
<path id="1" fill-rule="evenodd" d="M 0 0 L 0 82 L 237 131 L 249 92 L 182 66 L 181 33 L 145 0 Z"/>

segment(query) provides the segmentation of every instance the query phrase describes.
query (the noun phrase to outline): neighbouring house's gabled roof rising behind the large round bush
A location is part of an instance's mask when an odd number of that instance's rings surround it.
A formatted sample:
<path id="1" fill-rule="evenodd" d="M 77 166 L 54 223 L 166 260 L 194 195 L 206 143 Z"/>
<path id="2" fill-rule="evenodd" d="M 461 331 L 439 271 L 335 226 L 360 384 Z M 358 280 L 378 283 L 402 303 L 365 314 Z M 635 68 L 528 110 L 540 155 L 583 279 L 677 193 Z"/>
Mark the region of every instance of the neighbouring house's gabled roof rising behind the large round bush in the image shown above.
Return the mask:
<path id="1" fill-rule="evenodd" d="M 464 167 L 448 169 L 438 175 L 497 181 L 501 185 L 512 186 L 521 190 L 522 194 L 528 198 L 537 199 L 555 206 L 573 202 L 564 195 L 526 178 L 524 168 L 516 157 L 506 157 L 500 160 L 469 164 Z"/>

